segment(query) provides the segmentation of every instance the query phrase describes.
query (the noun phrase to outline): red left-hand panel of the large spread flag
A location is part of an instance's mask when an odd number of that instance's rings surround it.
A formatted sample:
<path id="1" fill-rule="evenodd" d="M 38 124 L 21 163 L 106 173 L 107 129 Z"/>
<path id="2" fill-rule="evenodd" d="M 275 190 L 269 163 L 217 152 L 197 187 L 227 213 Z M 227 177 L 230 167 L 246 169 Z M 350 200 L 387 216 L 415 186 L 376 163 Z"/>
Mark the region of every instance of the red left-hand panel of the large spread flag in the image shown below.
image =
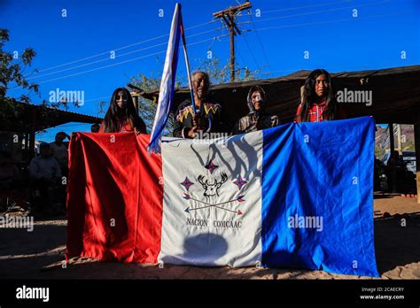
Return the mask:
<path id="1" fill-rule="evenodd" d="M 156 263 L 162 167 L 160 156 L 145 150 L 149 140 L 134 133 L 72 137 L 66 258 Z"/>

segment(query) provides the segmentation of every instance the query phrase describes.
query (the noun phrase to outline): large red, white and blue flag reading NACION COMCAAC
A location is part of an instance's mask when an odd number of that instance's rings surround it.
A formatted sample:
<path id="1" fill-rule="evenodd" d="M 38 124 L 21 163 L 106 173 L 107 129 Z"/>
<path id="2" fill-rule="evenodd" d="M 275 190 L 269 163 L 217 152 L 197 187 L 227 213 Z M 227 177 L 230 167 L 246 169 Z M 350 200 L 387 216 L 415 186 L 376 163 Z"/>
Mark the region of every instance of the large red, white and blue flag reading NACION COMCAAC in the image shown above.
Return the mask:
<path id="1" fill-rule="evenodd" d="M 377 277 L 372 118 L 216 139 L 77 133 L 67 257 Z"/>

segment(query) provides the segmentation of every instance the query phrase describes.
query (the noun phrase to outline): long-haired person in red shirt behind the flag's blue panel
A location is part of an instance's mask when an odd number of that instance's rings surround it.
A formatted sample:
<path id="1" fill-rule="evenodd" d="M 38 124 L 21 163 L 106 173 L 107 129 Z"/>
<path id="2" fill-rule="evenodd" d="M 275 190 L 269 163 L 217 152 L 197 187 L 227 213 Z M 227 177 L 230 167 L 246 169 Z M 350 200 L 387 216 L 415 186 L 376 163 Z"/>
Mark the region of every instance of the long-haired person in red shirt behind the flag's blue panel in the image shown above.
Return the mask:
<path id="1" fill-rule="evenodd" d="M 307 76 L 303 87 L 302 100 L 296 112 L 298 123 L 346 118 L 334 98 L 330 73 L 316 69 Z"/>

